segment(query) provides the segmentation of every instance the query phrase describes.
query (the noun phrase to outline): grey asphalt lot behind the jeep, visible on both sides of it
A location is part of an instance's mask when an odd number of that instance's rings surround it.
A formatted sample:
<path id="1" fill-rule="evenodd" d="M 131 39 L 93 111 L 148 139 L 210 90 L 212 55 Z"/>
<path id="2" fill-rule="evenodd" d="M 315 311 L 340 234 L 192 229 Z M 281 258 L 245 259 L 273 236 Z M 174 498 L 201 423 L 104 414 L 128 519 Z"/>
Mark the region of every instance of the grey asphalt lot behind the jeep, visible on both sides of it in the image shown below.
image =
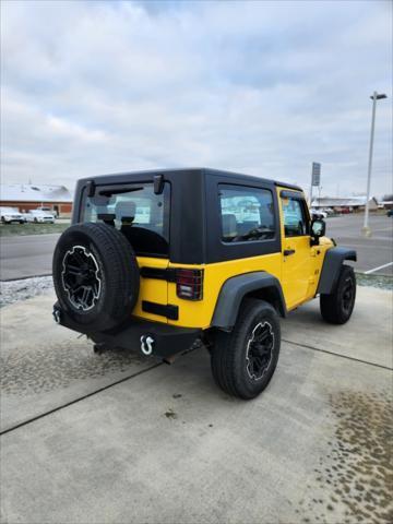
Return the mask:
<path id="1" fill-rule="evenodd" d="M 371 238 L 361 235 L 362 221 L 362 214 L 329 217 L 326 235 L 333 237 L 338 245 L 357 250 L 357 271 L 393 275 L 393 219 L 371 214 Z M 0 236 L 0 281 L 50 275 L 52 252 L 58 238 L 58 234 Z"/>

